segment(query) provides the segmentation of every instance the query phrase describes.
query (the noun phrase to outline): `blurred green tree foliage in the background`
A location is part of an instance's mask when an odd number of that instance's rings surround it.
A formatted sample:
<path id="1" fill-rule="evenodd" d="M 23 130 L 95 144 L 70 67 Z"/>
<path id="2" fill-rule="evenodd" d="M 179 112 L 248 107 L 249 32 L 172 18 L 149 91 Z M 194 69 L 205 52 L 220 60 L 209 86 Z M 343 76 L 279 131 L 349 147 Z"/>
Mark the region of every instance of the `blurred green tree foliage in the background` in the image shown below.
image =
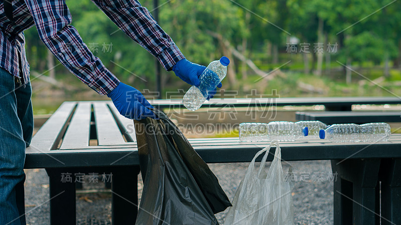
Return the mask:
<path id="1" fill-rule="evenodd" d="M 73 17 L 72 25 L 77 28 L 85 43 L 91 47 L 96 56 L 101 58 L 106 67 L 121 80 L 137 88 L 154 91 L 154 57 L 119 30 L 91 1 L 67 0 L 66 2 Z M 281 69 L 302 71 L 304 66 L 302 57 L 286 53 L 286 44 L 290 37 L 297 37 L 300 43 L 310 43 L 310 57 L 315 58 L 312 45 L 319 41 L 320 21 L 326 41 L 338 43 L 337 52 L 330 55 L 331 61 L 323 63 L 323 69 L 327 65 L 341 67 L 336 60 L 344 64 L 349 60 L 360 66 L 368 65 L 367 67 L 383 65 L 385 60 L 389 60 L 390 65 L 398 68 L 401 56 L 399 22 L 401 4 L 397 2 L 388 4 L 390 2 L 390 0 L 160 0 L 158 23 L 189 60 L 204 65 L 223 55 L 224 48 L 227 47 L 222 40 L 210 35 L 210 32 L 213 32 L 221 34 L 224 40 L 251 58 L 263 70 L 272 70 L 292 60 Z M 142 0 L 141 4 L 152 12 L 152 0 Z M 388 5 L 385 6 L 386 4 Z M 381 7 L 383 8 L 380 9 Z M 36 28 L 27 30 L 25 35 L 31 69 L 46 71 L 48 51 L 40 41 Z M 103 49 L 104 45 L 110 44 L 112 44 L 110 51 Z M 243 49 L 244 46 L 246 49 Z M 278 46 L 278 52 L 275 53 L 272 46 Z M 278 58 L 278 61 L 274 58 Z M 238 63 L 238 58 L 232 58 L 232 61 L 235 63 L 230 69 L 237 72 L 237 79 L 247 81 L 252 77 L 255 78 L 249 68 L 251 76 L 242 77 L 240 69 L 244 65 Z M 312 60 L 308 63 L 313 69 L 317 61 Z M 58 75 L 56 78 L 62 78 L 68 73 L 62 66 L 56 67 L 56 70 Z M 134 74 L 146 79 L 147 82 L 138 79 Z M 166 89 L 171 86 L 172 89 L 187 88 L 185 83 L 178 82 L 178 78 L 172 72 L 167 73 L 163 70 L 162 76 Z M 305 74 L 305 76 L 313 75 Z M 394 75 L 390 74 L 387 78 L 394 79 L 393 77 Z M 285 85 L 284 89 L 296 88 L 296 80 L 292 79 L 282 82 L 277 78 L 270 82 Z M 329 82 L 325 80 L 325 84 Z M 246 83 L 241 85 L 244 87 Z M 226 88 L 230 89 L 228 86 Z M 352 86 L 350 88 L 352 89 Z M 244 87 L 244 91 L 246 89 Z"/>

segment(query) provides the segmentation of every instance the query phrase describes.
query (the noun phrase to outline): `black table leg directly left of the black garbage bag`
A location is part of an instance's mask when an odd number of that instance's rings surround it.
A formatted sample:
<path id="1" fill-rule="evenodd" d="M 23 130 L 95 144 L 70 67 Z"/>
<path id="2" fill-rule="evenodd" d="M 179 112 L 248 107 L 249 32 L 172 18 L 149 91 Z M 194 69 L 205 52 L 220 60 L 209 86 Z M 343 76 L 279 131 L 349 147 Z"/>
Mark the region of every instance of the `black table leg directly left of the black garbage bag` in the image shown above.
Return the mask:
<path id="1" fill-rule="evenodd" d="M 119 169 L 111 182 L 111 217 L 113 225 L 135 224 L 138 214 L 139 166 Z"/>

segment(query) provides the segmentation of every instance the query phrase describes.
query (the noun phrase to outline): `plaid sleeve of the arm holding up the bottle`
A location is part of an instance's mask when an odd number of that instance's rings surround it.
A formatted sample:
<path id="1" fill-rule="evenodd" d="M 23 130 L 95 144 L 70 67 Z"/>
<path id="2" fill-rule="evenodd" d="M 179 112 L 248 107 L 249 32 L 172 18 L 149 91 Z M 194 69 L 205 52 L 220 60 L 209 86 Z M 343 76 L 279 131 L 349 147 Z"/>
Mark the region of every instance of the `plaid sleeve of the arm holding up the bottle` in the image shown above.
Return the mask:
<path id="1" fill-rule="evenodd" d="M 137 0 L 92 0 L 120 29 L 169 71 L 185 58 L 170 36 Z"/>

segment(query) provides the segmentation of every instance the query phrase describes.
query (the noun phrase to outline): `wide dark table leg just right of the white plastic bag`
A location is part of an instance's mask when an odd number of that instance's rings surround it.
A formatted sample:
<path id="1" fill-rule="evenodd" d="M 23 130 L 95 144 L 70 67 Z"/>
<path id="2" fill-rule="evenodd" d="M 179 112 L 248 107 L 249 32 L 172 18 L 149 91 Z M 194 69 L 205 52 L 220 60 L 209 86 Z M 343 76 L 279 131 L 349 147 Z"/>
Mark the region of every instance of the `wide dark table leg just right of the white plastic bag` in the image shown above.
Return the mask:
<path id="1" fill-rule="evenodd" d="M 331 160 L 334 182 L 334 224 L 375 224 L 379 159 Z"/>

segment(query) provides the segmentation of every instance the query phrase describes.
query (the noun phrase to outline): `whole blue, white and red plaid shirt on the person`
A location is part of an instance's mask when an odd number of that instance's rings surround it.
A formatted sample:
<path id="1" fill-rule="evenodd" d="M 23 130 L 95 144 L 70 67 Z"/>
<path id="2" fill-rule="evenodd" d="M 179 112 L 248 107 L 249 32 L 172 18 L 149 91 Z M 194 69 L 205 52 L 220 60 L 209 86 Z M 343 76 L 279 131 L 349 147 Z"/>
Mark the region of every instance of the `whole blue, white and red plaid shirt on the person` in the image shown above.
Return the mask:
<path id="1" fill-rule="evenodd" d="M 71 23 L 65 0 L 12 0 L 13 21 L 0 0 L 0 67 L 28 81 L 23 31 L 34 24 L 41 40 L 56 58 L 99 94 L 106 94 L 119 80 L 92 54 Z M 153 54 L 166 70 L 184 58 L 137 0 L 92 0 L 120 29 Z M 22 71 L 20 71 L 22 68 Z"/>

